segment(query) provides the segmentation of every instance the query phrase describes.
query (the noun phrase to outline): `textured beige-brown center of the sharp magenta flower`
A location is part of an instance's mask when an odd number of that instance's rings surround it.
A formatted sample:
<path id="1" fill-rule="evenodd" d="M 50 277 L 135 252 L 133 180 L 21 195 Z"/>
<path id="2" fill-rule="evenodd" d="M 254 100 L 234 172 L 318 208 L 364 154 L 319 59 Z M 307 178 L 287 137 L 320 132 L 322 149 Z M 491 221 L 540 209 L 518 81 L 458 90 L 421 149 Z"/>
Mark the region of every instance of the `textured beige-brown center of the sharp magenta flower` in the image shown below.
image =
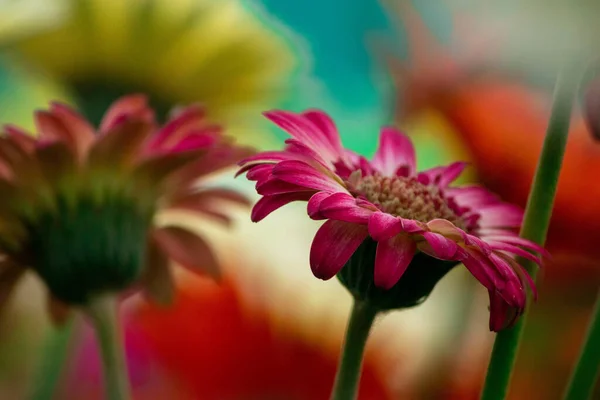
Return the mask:
<path id="1" fill-rule="evenodd" d="M 423 185 L 415 178 L 370 175 L 361 178 L 356 189 L 391 215 L 424 223 L 441 218 L 459 228 L 465 226 L 437 187 Z"/>

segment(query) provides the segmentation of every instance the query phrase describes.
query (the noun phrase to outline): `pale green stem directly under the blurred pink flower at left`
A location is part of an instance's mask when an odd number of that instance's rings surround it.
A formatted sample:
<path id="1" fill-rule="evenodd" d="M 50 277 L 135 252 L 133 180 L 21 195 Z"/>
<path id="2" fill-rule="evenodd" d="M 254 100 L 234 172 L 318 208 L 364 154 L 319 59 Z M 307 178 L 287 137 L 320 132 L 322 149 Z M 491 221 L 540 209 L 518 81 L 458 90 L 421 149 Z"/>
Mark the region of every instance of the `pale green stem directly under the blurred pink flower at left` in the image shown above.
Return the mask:
<path id="1" fill-rule="evenodd" d="M 96 297 L 85 311 L 92 320 L 100 344 L 106 399 L 128 400 L 129 379 L 119 329 L 117 300 L 112 295 Z"/>

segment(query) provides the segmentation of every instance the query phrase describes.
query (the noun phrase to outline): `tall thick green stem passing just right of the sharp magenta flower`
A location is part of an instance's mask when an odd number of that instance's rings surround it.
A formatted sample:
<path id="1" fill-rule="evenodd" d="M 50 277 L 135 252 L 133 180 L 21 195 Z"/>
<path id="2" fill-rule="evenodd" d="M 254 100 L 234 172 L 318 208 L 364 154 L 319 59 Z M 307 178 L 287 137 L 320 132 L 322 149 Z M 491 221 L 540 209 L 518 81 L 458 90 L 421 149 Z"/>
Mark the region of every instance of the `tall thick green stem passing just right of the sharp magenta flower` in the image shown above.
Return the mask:
<path id="1" fill-rule="evenodd" d="M 575 98 L 577 85 L 574 84 L 572 79 L 574 75 L 570 72 L 563 71 L 556 81 L 552 114 L 521 229 L 522 237 L 541 245 L 546 241 L 550 224 Z M 535 280 L 537 275 L 535 264 L 524 260 L 520 262 Z M 482 400 L 506 398 L 526 318 L 527 314 L 514 327 L 505 329 L 496 336 L 481 395 Z"/>

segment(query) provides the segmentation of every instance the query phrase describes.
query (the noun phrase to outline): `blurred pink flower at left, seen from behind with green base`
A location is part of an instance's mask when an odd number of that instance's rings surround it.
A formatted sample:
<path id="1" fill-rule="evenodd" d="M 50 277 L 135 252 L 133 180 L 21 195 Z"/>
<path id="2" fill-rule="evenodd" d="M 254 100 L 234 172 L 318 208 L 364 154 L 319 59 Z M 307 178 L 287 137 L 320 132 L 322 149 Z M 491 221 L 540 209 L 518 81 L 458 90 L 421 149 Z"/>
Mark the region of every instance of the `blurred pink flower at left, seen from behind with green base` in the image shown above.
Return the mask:
<path id="1" fill-rule="evenodd" d="M 129 96 L 97 130 L 58 103 L 35 121 L 35 136 L 14 126 L 0 136 L 0 281 L 7 287 L 33 269 L 60 319 L 65 304 L 137 284 L 170 301 L 169 259 L 218 276 L 200 236 L 154 222 L 168 209 L 226 221 L 215 202 L 246 203 L 236 192 L 196 185 L 197 177 L 251 153 L 208 125 L 201 107 L 182 109 L 159 127 L 146 98 Z"/>

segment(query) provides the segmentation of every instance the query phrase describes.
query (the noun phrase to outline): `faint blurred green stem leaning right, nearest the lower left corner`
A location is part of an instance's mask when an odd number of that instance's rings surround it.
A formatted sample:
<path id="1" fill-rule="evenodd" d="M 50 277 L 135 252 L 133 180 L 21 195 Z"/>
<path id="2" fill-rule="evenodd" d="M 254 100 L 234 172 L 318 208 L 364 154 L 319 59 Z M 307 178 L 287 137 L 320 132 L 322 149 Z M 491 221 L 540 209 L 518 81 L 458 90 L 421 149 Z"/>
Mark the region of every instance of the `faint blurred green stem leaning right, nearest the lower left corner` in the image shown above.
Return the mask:
<path id="1" fill-rule="evenodd" d="M 70 318 L 64 325 L 50 328 L 42 349 L 41 362 L 35 375 L 30 400 L 54 398 L 69 354 L 74 325 L 74 319 Z"/>

